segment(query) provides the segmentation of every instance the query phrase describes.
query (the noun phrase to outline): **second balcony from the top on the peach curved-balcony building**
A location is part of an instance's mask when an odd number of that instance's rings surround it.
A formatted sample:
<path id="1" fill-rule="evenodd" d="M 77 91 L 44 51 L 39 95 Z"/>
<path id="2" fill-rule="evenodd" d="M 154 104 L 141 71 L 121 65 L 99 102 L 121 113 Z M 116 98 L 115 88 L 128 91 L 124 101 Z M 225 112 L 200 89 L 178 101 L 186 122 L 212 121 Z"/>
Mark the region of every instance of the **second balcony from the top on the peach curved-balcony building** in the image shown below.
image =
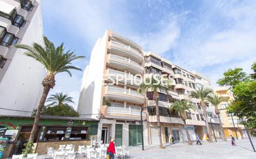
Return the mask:
<path id="1" fill-rule="evenodd" d="M 118 56 L 116 54 L 109 54 L 108 66 L 119 69 L 126 69 L 127 71 L 131 72 L 132 74 L 142 74 L 143 67 L 140 66 L 135 61 L 131 59 L 124 58 L 122 56 Z"/>

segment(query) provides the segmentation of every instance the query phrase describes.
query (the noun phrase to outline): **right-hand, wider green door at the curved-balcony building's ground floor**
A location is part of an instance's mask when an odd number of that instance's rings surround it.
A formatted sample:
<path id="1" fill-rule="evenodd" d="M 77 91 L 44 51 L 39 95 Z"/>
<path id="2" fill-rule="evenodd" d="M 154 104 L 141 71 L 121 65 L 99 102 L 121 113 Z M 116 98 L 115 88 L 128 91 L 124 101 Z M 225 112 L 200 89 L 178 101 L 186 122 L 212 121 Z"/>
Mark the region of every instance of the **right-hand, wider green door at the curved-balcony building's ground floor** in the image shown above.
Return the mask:
<path id="1" fill-rule="evenodd" d="M 140 125 L 129 125 L 129 146 L 141 145 L 142 135 Z"/>

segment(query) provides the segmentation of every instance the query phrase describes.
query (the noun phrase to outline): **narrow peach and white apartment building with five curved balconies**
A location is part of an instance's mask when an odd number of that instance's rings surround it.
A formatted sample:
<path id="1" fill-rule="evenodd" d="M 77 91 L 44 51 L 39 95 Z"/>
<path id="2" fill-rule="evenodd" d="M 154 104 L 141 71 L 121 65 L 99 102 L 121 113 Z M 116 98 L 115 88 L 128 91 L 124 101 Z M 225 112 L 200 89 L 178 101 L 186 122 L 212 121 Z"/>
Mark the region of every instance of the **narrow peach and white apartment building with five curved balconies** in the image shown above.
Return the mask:
<path id="1" fill-rule="evenodd" d="M 116 145 L 142 143 L 140 110 L 145 96 L 137 92 L 135 81 L 140 78 L 135 75 L 142 77 L 143 66 L 140 46 L 117 33 L 107 30 L 94 45 L 83 75 L 78 111 L 86 118 L 100 118 L 98 140 L 103 143 L 111 138 Z M 142 116 L 145 120 L 145 112 Z M 144 135 L 147 139 L 146 127 Z"/>

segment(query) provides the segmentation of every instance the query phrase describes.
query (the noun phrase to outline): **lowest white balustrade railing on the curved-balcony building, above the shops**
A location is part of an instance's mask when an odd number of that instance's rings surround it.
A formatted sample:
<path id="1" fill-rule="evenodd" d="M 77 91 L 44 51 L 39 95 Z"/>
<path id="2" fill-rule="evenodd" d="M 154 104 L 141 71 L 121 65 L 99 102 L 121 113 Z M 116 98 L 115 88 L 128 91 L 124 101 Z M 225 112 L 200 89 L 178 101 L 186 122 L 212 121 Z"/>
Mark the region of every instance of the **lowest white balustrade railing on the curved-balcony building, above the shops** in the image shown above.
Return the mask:
<path id="1" fill-rule="evenodd" d="M 116 103 L 115 103 L 116 105 Z M 117 104 L 119 105 L 119 104 Z M 126 114 L 126 115 L 137 115 L 140 116 L 140 110 L 132 108 L 121 108 L 116 106 L 107 106 L 107 114 Z M 145 116 L 145 111 L 142 112 L 142 116 Z"/>

